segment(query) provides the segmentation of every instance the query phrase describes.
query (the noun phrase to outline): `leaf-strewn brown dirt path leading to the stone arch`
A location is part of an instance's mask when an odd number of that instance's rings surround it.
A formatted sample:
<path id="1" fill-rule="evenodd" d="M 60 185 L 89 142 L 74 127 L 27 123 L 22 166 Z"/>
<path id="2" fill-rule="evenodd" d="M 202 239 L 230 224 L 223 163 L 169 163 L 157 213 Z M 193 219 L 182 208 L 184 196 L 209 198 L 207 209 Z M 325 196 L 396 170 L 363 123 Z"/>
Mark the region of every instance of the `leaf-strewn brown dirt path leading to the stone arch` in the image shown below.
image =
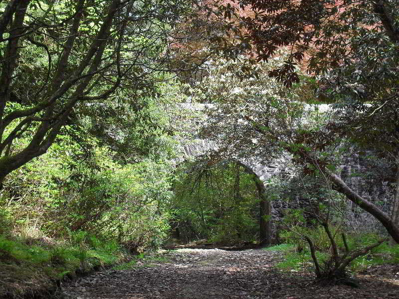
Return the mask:
<path id="1" fill-rule="evenodd" d="M 282 272 L 279 252 L 183 249 L 131 269 L 107 270 L 62 288 L 67 299 L 398 299 L 399 267 L 357 276 L 361 287 L 322 287 L 311 272 Z"/>

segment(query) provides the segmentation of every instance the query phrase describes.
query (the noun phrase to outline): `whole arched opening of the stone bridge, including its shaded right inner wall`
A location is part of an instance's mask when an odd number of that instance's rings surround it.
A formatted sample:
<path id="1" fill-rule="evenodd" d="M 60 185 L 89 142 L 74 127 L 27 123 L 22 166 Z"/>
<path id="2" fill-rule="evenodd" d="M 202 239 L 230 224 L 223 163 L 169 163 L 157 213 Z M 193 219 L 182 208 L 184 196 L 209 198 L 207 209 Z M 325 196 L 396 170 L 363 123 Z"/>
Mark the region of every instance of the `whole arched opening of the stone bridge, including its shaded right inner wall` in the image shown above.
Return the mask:
<path id="1" fill-rule="evenodd" d="M 182 163 L 180 171 L 174 187 L 174 237 L 270 244 L 271 202 L 250 166 L 231 158 L 202 157 Z"/>

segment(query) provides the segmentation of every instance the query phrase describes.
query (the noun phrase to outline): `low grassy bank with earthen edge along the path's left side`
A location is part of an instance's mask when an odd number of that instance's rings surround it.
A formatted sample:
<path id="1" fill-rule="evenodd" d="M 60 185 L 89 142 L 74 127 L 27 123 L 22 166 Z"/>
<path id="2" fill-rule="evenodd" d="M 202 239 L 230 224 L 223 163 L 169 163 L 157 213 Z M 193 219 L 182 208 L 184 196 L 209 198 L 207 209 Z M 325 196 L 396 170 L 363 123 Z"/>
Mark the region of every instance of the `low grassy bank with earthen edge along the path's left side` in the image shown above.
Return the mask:
<path id="1" fill-rule="evenodd" d="M 26 245 L 0 236 L 0 298 L 23 297 L 54 288 L 54 282 L 126 260 L 115 242 L 80 245 Z M 34 291 L 36 290 L 36 291 Z"/>

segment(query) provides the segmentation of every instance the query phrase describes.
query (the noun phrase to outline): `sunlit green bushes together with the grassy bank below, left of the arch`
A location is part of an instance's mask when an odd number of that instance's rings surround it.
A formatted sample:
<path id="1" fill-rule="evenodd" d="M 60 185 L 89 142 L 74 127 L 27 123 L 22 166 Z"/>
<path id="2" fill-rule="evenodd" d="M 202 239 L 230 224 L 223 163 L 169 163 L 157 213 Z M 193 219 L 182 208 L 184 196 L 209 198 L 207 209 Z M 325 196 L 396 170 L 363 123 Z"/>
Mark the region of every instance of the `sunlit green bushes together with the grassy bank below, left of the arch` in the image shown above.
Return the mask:
<path id="1" fill-rule="evenodd" d="M 0 239 L 0 268 L 21 285 L 36 273 L 61 279 L 115 265 L 125 260 L 123 245 L 158 248 L 167 235 L 169 138 L 155 154 L 121 164 L 107 147 L 83 137 L 59 137 L 4 181 L 0 232 L 12 240 Z M 18 142 L 15 147 L 26 145 L 24 138 Z"/>

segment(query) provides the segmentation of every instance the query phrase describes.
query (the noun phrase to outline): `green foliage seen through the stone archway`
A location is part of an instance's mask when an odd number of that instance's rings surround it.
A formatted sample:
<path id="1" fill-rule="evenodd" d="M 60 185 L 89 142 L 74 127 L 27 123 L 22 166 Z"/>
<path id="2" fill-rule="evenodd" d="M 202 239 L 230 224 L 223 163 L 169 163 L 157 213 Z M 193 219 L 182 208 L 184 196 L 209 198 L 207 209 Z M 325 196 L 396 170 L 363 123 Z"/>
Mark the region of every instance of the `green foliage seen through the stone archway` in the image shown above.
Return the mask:
<path id="1" fill-rule="evenodd" d="M 198 169 L 175 184 L 173 222 L 184 241 L 254 241 L 257 195 L 252 176 L 235 163 Z"/>

